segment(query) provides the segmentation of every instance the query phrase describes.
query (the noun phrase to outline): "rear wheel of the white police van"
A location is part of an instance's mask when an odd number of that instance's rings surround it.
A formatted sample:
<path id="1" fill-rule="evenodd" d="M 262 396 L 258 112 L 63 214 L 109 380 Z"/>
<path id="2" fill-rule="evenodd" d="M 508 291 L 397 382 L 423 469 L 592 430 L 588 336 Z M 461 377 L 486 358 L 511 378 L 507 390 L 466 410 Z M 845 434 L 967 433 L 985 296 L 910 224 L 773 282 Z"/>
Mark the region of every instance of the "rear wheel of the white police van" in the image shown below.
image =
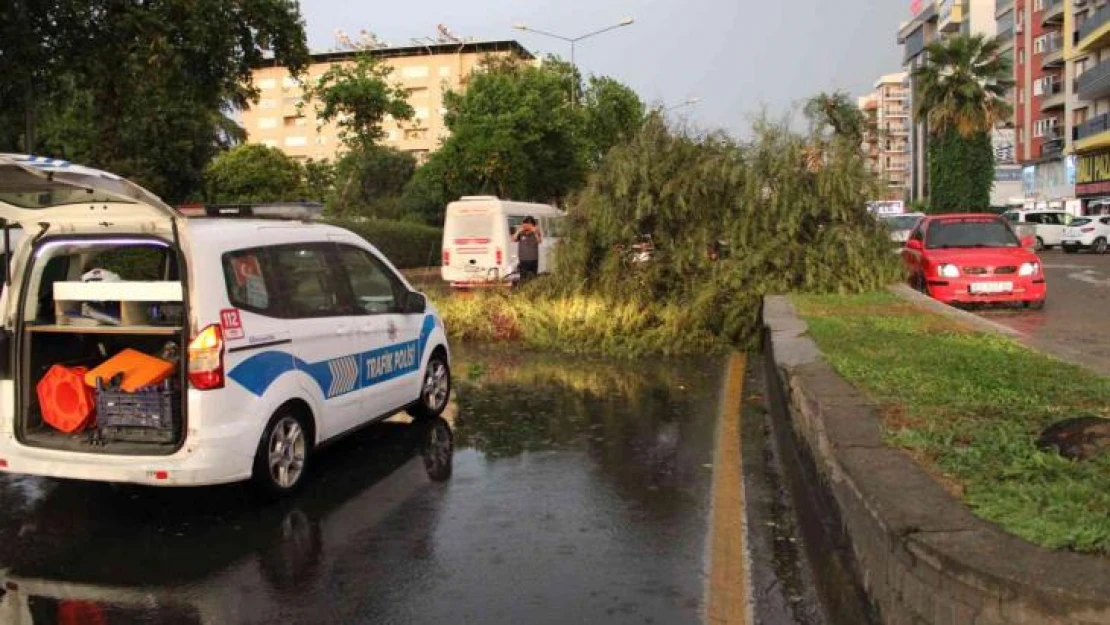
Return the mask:
<path id="1" fill-rule="evenodd" d="M 254 454 L 252 480 L 264 493 L 286 496 L 304 484 L 312 440 L 304 416 L 290 407 L 270 419 Z"/>

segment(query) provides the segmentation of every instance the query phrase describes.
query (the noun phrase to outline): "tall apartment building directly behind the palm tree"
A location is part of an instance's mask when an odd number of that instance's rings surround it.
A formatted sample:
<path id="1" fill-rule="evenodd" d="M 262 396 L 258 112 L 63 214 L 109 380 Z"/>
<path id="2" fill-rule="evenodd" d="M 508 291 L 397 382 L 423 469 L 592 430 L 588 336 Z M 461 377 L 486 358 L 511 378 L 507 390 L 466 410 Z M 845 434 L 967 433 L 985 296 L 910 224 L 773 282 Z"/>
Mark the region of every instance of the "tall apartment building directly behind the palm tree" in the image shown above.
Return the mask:
<path id="1" fill-rule="evenodd" d="M 902 67 L 907 73 L 926 62 L 926 47 L 953 34 L 983 34 L 995 37 L 1002 32 L 1008 38 L 1009 27 L 1006 2 L 1013 0 L 912 0 L 912 18 L 898 29 L 898 43 L 902 46 Z M 1030 0 L 1032 1 L 1032 0 Z M 1012 7 L 1010 8 L 1012 12 Z M 1001 29 L 1001 30 L 1000 30 Z M 1009 49 L 1003 53 L 1011 52 Z M 910 81 L 910 110 L 916 101 Z M 1005 205 L 1021 191 L 1021 169 L 1016 164 L 1012 129 L 1001 128 L 992 137 L 998 167 L 995 169 L 995 188 L 991 203 Z M 928 140 L 925 120 L 914 119 L 909 129 L 909 188 L 910 198 L 919 200 L 929 194 Z"/>

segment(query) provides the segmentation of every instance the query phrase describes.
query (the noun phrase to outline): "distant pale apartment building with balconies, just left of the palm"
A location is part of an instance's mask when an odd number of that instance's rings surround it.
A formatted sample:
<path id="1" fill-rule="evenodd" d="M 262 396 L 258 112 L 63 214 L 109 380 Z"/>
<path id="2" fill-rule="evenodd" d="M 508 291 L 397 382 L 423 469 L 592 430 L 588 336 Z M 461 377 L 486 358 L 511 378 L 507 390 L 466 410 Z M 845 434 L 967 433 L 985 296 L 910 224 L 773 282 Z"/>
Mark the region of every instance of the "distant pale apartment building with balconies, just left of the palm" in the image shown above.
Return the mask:
<path id="1" fill-rule="evenodd" d="M 859 98 L 867 119 L 864 153 L 868 169 L 886 188 L 884 200 L 909 195 L 909 82 L 906 72 L 879 78 L 875 91 Z"/>

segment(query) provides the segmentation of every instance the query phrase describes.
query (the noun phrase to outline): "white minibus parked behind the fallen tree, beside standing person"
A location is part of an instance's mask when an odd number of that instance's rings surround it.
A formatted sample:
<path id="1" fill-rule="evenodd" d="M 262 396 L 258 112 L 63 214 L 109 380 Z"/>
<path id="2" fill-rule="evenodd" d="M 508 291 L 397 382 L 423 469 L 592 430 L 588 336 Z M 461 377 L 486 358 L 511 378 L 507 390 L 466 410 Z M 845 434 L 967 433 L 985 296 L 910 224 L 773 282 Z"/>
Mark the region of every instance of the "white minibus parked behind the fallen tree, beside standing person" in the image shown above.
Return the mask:
<path id="1" fill-rule="evenodd" d="M 492 195 L 468 195 L 447 204 L 443 222 L 441 274 L 452 286 L 504 284 L 519 258 L 513 234 L 533 216 L 543 241 L 539 273 L 553 266 L 565 213 L 548 204 L 509 202 Z"/>

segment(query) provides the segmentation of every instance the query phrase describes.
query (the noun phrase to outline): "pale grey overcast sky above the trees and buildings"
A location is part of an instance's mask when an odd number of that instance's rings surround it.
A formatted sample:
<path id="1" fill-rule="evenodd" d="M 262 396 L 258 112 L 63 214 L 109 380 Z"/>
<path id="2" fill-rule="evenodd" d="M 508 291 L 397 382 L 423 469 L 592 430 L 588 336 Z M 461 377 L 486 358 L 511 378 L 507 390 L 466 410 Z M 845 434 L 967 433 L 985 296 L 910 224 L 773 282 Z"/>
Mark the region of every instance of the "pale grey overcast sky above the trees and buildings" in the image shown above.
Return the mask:
<path id="1" fill-rule="evenodd" d="M 896 34 L 909 17 L 909 0 L 301 0 L 301 7 L 314 51 L 333 47 L 337 28 L 403 46 L 444 23 L 460 37 L 516 39 L 534 53 L 567 58 L 569 44 L 513 23 L 577 37 L 633 17 L 633 26 L 577 44 L 582 71 L 612 75 L 649 103 L 700 98 L 682 113 L 736 134 L 745 134 L 763 105 L 778 114 L 821 90 L 859 95 L 880 74 L 899 71 Z"/>

